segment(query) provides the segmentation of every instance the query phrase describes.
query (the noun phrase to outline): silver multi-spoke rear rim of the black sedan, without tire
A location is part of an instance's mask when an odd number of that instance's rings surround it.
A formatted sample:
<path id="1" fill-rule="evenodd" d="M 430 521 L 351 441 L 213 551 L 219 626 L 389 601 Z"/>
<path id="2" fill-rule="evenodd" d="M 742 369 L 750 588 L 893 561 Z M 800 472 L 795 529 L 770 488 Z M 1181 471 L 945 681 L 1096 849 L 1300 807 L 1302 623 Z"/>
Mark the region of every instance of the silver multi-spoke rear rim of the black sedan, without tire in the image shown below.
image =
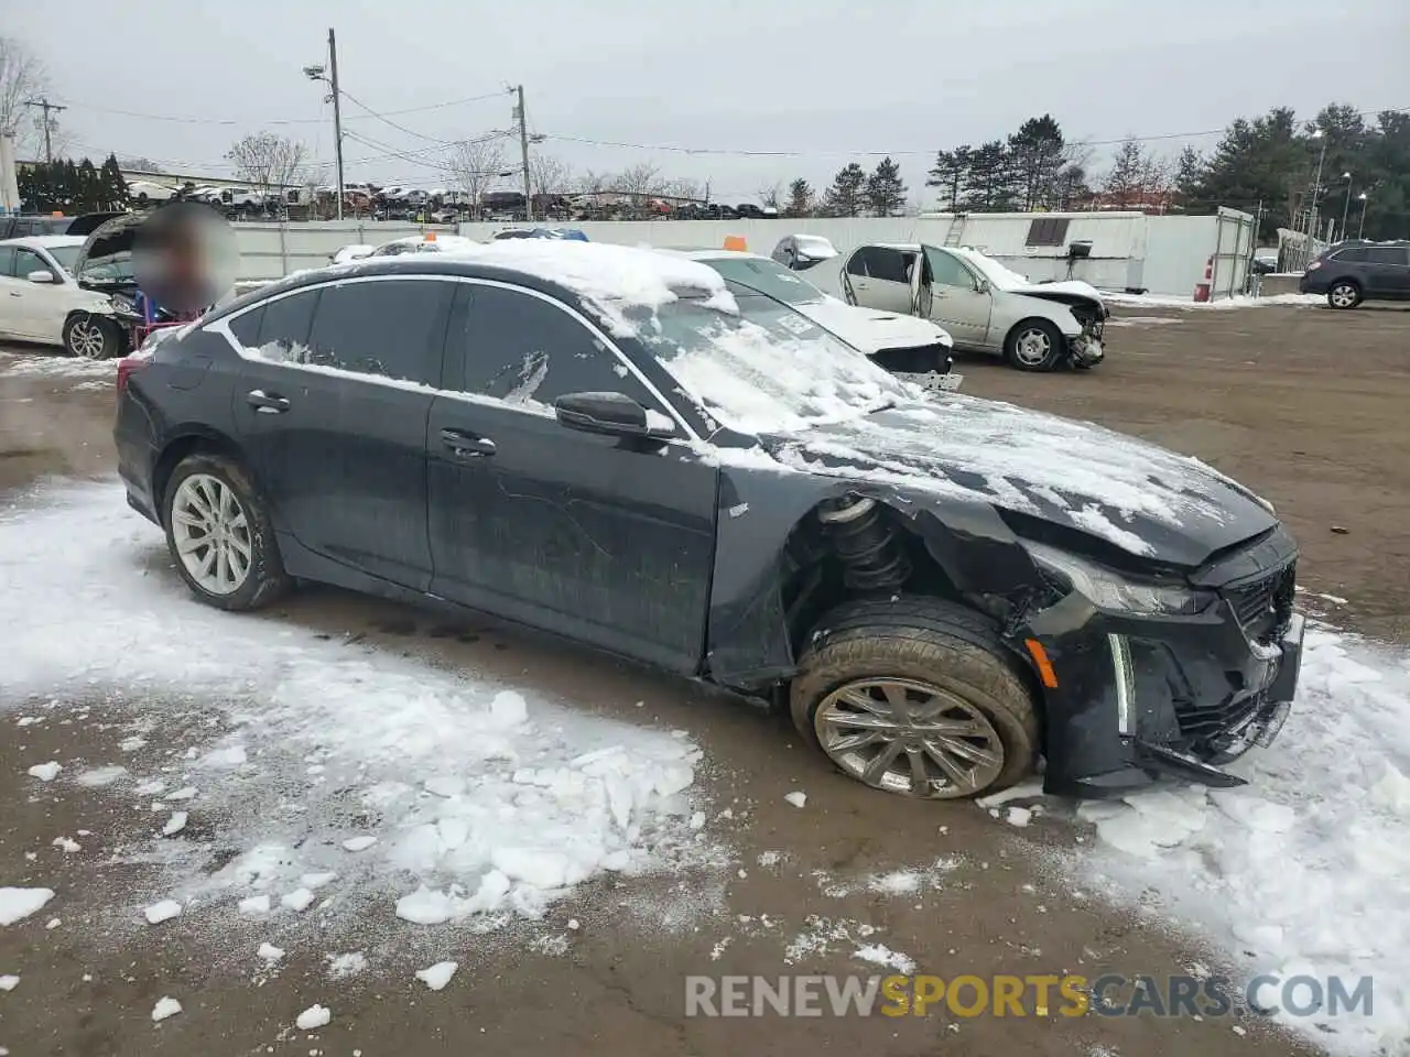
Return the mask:
<path id="1" fill-rule="evenodd" d="M 171 519 L 176 554 L 202 591 L 233 595 L 244 586 L 254 541 L 230 485 L 210 474 L 192 474 L 176 488 Z"/>

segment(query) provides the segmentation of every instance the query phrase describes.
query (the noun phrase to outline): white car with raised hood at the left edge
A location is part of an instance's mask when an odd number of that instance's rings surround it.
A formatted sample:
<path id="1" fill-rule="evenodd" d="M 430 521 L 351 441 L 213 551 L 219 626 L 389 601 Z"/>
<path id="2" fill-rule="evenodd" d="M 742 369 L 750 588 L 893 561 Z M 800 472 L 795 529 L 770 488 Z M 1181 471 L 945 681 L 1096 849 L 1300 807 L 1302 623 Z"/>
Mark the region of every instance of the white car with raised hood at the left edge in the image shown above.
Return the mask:
<path id="1" fill-rule="evenodd" d="M 70 355 L 106 359 L 123 348 L 123 328 L 102 293 L 82 289 L 70 271 L 83 235 L 34 235 L 0 242 L 0 337 L 62 345 Z"/>

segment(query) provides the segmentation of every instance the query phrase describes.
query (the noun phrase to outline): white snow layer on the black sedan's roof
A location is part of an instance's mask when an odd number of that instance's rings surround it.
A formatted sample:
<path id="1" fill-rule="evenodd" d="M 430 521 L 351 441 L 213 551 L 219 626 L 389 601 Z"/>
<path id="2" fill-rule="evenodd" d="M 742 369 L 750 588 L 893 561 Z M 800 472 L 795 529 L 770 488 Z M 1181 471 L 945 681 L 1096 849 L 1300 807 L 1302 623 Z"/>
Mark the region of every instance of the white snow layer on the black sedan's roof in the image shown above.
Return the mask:
<path id="1" fill-rule="evenodd" d="M 677 300 L 677 290 L 704 293 L 723 311 L 736 311 L 725 280 L 706 265 L 653 249 L 556 238 L 513 238 L 457 245 L 448 256 L 512 268 L 547 279 L 578 295 L 619 337 L 636 337 L 632 310 L 656 311 Z"/>

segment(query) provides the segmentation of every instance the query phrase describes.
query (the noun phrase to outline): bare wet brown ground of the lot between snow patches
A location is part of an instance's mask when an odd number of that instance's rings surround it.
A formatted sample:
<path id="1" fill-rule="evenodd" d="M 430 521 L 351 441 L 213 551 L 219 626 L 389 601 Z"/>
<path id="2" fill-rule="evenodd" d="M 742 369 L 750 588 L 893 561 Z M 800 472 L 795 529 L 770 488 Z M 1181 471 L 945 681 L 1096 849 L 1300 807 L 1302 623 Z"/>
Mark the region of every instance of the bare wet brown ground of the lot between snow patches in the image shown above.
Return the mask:
<path id="1" fill-rule="evenodd" d="M 1402 452 L 1410 311 L 1120 309 L 1117 323 L 1108 361 L 1091 373 L 1028 376 L 998 361 L 962 361 L 964 390 L 1093 419 L 1241 479 L 1279 507 L 1301 541 L 1310 609 L 1406 641 L 1410 466 Z M 24 489 L 44 475 L 111 472 L 111 389 L 102 371 L 41 371 L 35 352 L 0 354 L 0 507 L 25 502 Z M 147 572 L 175 576 L 159 561 Z M 467 622 L 447 634 L 440 616 L 331 591 L 298 595 L 269 619 L 334 638 L 358 637 L 388 655 L 529 681 L 595 715 L 688 730 L 711 761 L 697 781 L 701 796 L 712 803 L 712 816 L 725 808 L 733 815 L 709 826 L 728 863 L 699 875 L 627 882 L 627 891 L 588 884 L 543 922 L 498 933 L 494 941 L 468 930 L 429 937 L 371 917 L 358 936 L 303 932 L 281 941 L 290 951 L 281 972 L 252 975 L 228 948 L 255 937 L 213 932 L 196 919 L 169 922 L 159 933 L 133 922 L 131 905 L 154 896 L 144 892 L 148 868 L 117 854 L 141 833 L 142 820 L 128 806 L 102 789 L 35 789 L 25 777 L 35 758 L 118 760 L 121 722 L 142 707 L 140 695 L 70 702 L 75 717 L 85 719 L 63 726 L 18 730 L 0 719 L 7 731 L 0 738 L 0 796 L 11 805 L 0 815 L 0 884 L 38 884 L 37 871 L 62 860 L 59 895 L 68 908 L 52 930 L 48 913 L 0 930 L 0 974 L 23 978 L 0 995 L 0 1044 L 17 1057 L 1311 1051 L 1255 1022 L 1239 1022 L 1246 1033 L 1237 1033 L 1228 1022 L 1151 1018 L 950 1026 L 940 1018 L 685 1019 L 681 981 L 691 972 L 859 971 L 847 943 L 815 944 L 785 963 L 790 941 L 812 927 L 809 915 L 847 922 L 853 936 L 863 926 L 876 929 L 919 971 L 945 975 L 1159 974 L 1213 956 L 1159 919 L 1093 899 L 1055 870 L 1083 836 L 1080 826 L 1053 820 L 1019 830 L 970 805 L 918 805 L 867 792 L 804 753 L 780 722 L 694 686 L 491 622 Z M 75 648 L 82 648 L 79 640 Z M 649 706 L 636 709 L 639 700 Z M 190 729 L 164 729 L 149 736 L 148 751 L 180 751 L 193 738 Z M 799 788 L 808 791 L 807 810 L 783 799 Z M 219 820 L 216 826 L 219 841 Z M 80 829 L 93 834 L 80 853 L 65 858 L 51 846 L 55 834 Z M 924 895 L 898 896 L 866 884 L 938 857 L 956 864 Z M 825 891 L 819 871 L 849 891 Z M 52 884 L 55 874 L 48 877 Z M 570 919 L 580 927 L 565 933 Z M 548 934 L 568 936 L 568 943 L 541 943 Z M 367 950 L 372 968 L 330 985 L 324 954 L 352 943 Z M 462 963 L 451 988 L 429 994 L 412 979 L 413 968 L 451 956 Z M 149 1010 L 168 994 L 180 994 L 186 1010 L 157 1029 Z M 314 1033 L 295 1032 L 295 1015 L 314 1001 L 333 1005 L 336 1019 Z"/>

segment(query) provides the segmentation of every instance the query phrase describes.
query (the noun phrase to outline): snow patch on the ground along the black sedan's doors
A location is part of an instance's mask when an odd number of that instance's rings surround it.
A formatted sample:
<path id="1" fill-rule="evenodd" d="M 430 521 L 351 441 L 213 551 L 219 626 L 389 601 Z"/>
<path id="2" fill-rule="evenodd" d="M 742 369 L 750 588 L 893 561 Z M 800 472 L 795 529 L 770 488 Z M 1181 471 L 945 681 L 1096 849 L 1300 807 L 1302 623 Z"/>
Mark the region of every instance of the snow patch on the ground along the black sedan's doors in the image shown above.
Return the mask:
<path id="1" fill-rule="evenodd" d="M 154 826 L 145 854 L 175 872 L 149 895 L 162 899 L 154 923 L 183 903 L 186 916 L 323 913 L 354 892 L 382 901 L 388 919 L 537 917 L 601 871 L 704 847 L 688 823 L 699 753 L 687 738 L 209 609 L 166 571 L 161 536 L 121 489 L 49 499 L 0 516 L 0 622 L 13 629 L 0 707 L 65 691 L 121 700 L 140 686 L 155 729 L 164 707 L 173 719 L 196 707 L 224 731 L 186 753 L 185 774 L 107 786 L 144 808 L 154 795 L 189 801 L 223 820 L 221 846 L 244 848 L 207 872 L 203 841 Z M 76 613 L 104 629 L 82 651 Z"/>

